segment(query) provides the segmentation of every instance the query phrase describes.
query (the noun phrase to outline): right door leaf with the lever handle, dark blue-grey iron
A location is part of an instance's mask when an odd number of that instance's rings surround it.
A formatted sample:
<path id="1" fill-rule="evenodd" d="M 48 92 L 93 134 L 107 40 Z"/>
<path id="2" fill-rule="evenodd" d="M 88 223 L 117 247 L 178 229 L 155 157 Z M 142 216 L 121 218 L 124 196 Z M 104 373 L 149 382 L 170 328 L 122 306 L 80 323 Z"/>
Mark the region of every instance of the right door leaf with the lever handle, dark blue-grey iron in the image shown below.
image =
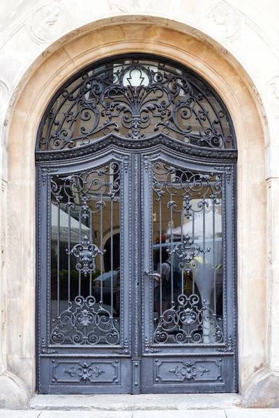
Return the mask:
<path id="1" fill-rule="evenodd" d="M 142 392 L 235 390 L 232 177 L 142 156 Z"/>

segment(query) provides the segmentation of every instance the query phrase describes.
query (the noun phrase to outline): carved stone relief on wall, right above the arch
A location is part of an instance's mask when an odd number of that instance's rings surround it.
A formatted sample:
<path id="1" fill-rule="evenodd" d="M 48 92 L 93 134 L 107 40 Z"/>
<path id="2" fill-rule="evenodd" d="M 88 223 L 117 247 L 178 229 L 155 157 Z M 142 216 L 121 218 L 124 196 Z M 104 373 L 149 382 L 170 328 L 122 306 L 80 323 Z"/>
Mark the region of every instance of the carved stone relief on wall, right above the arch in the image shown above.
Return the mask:
<path id="1" fill-rule="evenodd" d="M 244 19 L 234 7 L 226 3 L 217 3 L 209 8 L 207 16 L 217 25 L 223 26 L 223 37 L 228 42 L 233 42 L 241 36 Z"/>

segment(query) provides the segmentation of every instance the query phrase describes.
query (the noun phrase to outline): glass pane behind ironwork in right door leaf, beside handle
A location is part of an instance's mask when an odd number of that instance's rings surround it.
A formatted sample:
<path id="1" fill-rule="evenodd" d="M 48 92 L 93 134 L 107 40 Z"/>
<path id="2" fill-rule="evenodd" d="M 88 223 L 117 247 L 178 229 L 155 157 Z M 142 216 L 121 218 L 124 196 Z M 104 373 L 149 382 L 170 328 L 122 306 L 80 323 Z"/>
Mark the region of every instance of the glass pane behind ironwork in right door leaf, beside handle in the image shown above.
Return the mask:
<path id="1" fill-rule="evenodd" d="M 222 183 L 153 164 L 156 343 L 223 342 Z"/>

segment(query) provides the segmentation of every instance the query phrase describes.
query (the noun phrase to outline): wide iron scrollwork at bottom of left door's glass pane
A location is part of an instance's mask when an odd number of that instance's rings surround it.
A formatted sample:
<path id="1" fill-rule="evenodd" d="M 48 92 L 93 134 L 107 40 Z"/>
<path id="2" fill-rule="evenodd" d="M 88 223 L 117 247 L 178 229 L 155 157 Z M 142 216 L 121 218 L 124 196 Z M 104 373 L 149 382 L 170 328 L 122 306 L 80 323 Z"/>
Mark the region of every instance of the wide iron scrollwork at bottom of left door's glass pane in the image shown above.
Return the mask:
<path id="1" fill-rule="evenodd" d="M 68 309 L 53 320 L 54 330 L 51 342 L 54 344 L 91 345 L 119 343 L 118 320 L 103 308 L 103 302 L 96 304 L 95 297 L 75 297 Z"/>

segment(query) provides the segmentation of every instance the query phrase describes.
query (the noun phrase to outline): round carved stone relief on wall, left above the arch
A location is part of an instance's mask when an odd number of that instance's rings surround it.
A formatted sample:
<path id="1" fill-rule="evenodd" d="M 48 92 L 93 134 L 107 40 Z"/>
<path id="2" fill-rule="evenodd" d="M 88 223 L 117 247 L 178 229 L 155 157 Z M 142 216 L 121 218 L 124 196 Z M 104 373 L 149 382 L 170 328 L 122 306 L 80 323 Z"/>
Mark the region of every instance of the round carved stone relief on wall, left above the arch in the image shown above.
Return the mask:
<path id="1" fill-rule="evenodd" d="M 46 4 L 29 15 L 25 27 L 31 40 L 40 45 L 59 37 L 69 19 L 60 6 Z"/>

